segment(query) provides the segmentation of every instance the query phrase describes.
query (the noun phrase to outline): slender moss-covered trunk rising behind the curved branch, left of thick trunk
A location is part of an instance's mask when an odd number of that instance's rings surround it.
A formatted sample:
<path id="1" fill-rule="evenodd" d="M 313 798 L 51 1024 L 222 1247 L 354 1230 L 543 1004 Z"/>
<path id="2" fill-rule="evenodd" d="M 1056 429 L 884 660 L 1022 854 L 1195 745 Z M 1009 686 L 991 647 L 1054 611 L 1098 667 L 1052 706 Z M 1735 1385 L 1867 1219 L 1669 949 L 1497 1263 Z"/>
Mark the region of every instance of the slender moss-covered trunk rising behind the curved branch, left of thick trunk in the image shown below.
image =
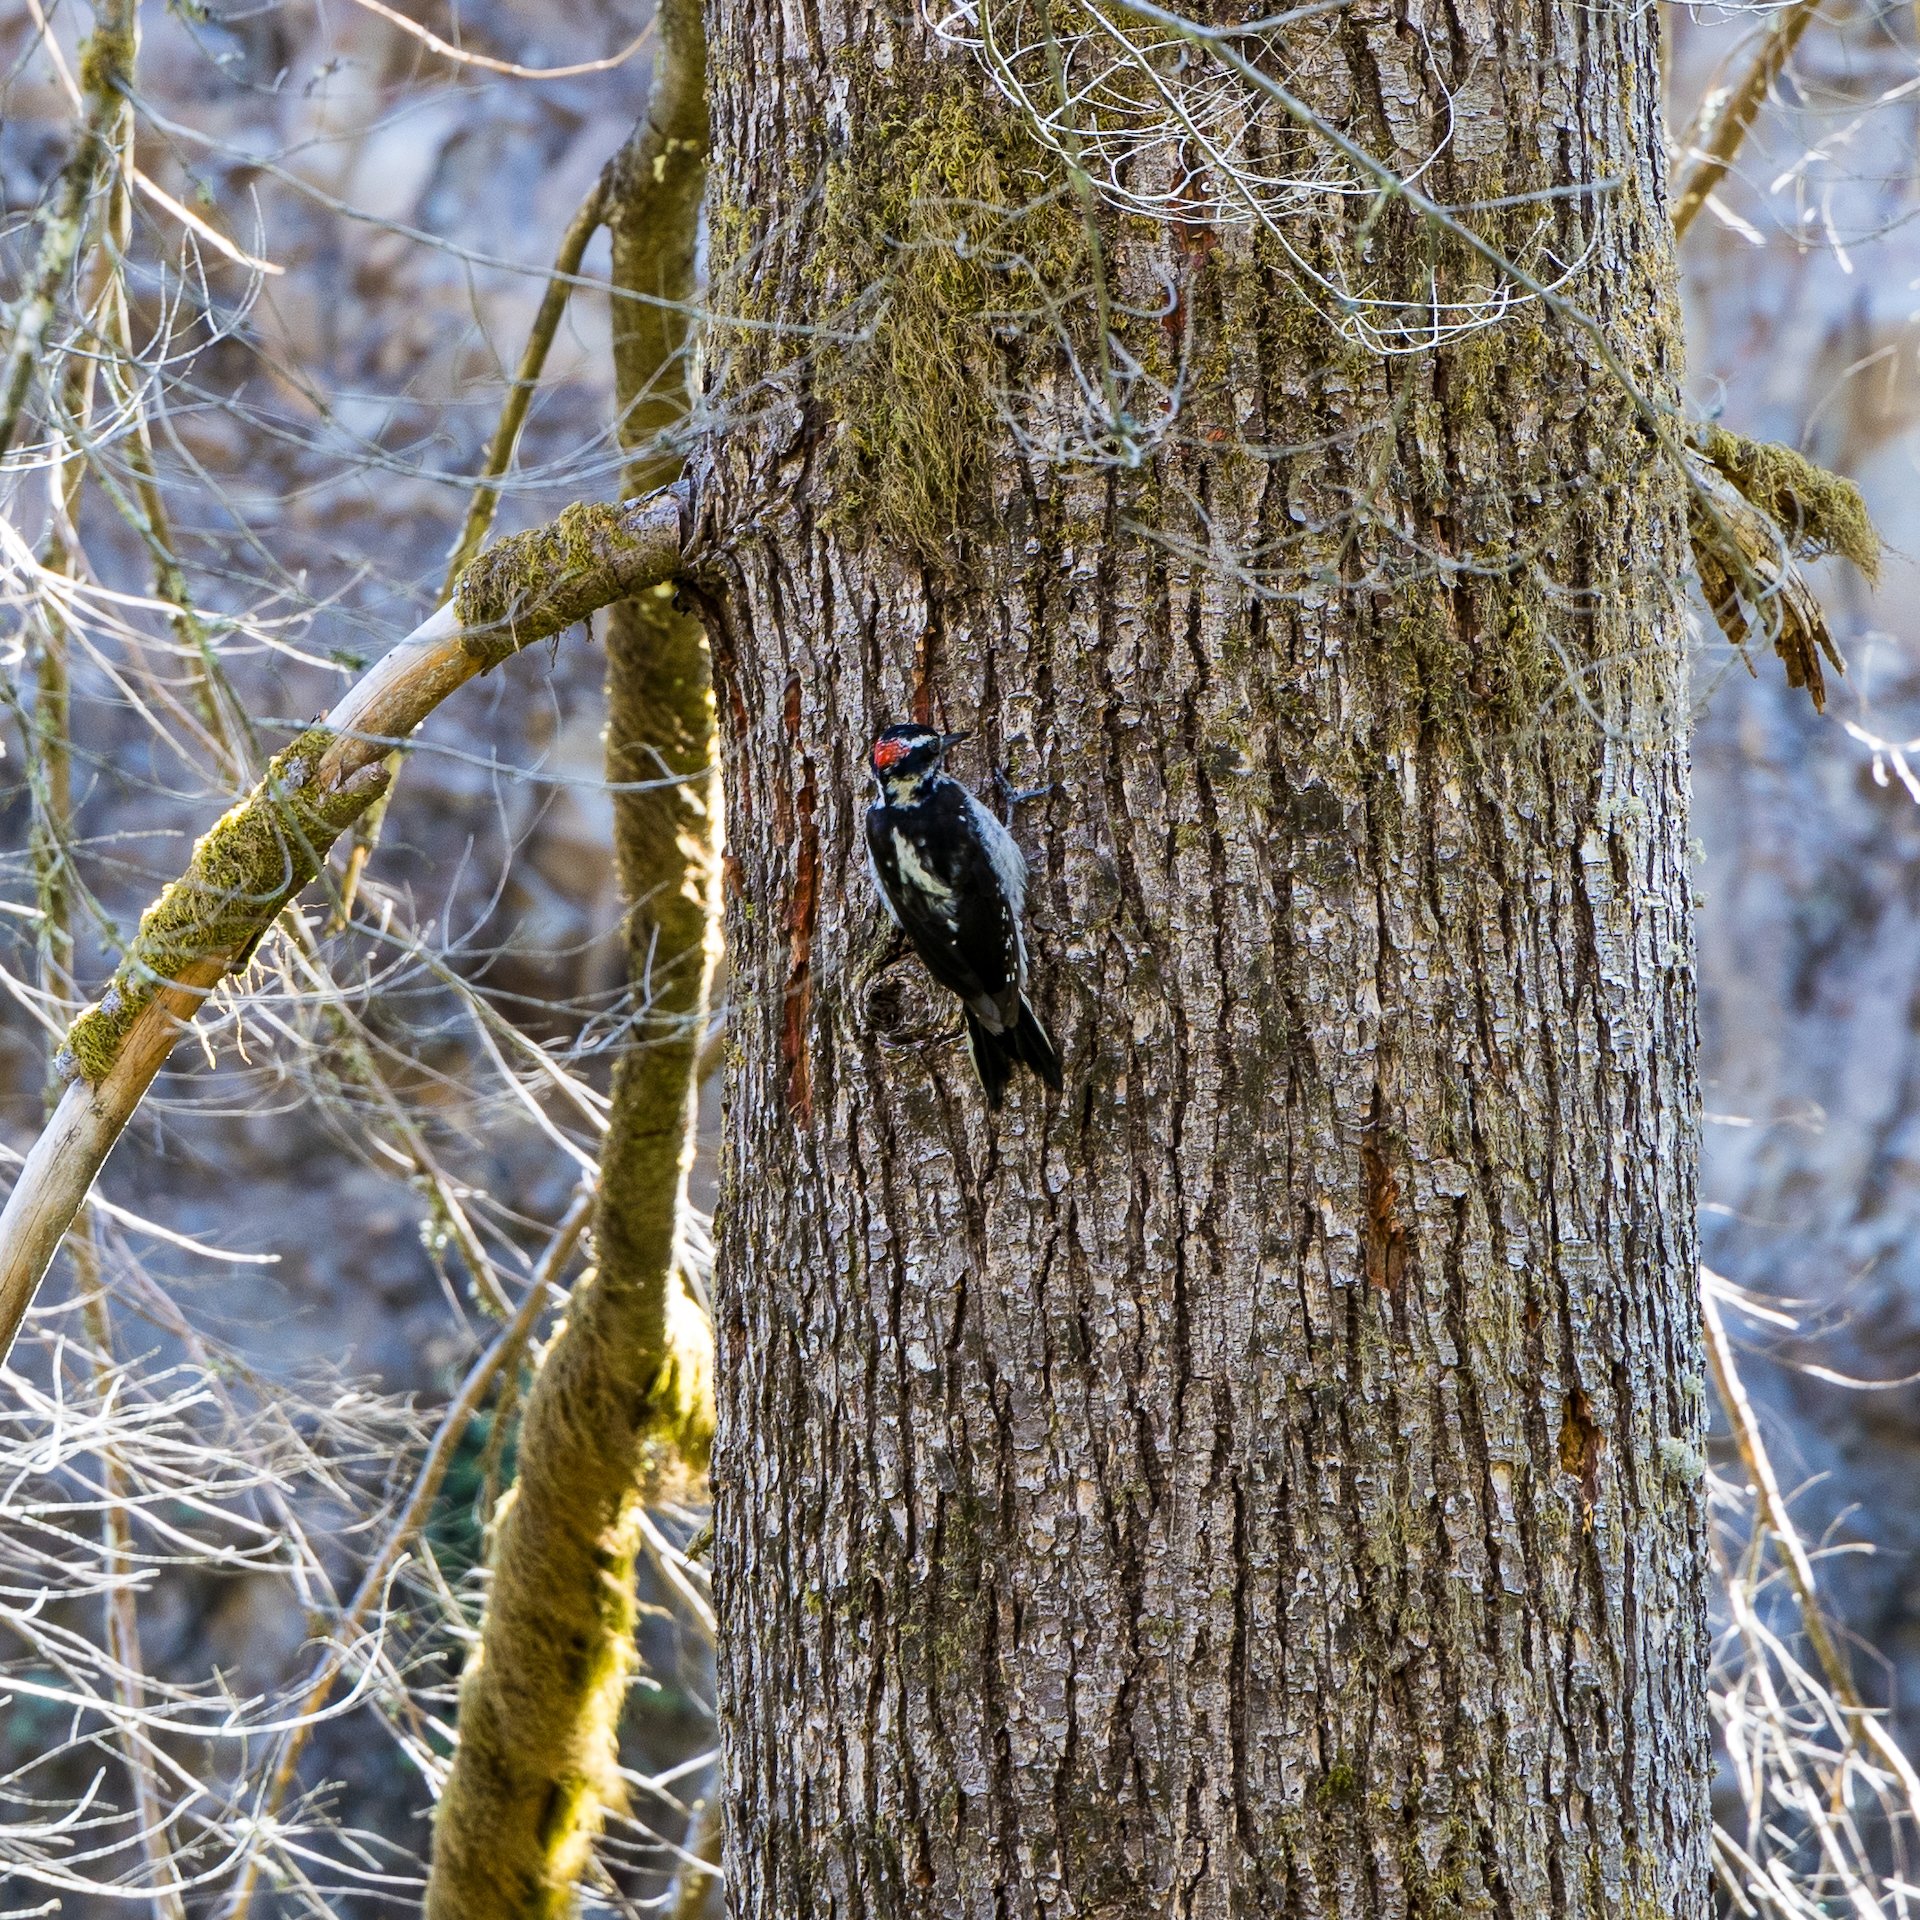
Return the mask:
<path id="1" fill-rule="evenodd" d="M 705 42 L 695 0 L 664 0 L 647 117 L 609 169 L 614 386 L 628 468 L 666 484 L 659 445 L 685 415 L 682 349 L 707 167 Z M 712 668 L 674 586 L 612 607 L 607 778 L 630 902 L 637 1012 L 612 1081 L 593 1215 L 597 1265 L 540 1363 L 520 1465 L 501 1507 L 478 1653 L 434 1834 L 428 1914 L 563 1914 L 605 1805 L 620 1803 L 616 1730 L 634 1644 L 639 1503 L 662 1469 L 701 1467 L 710 1340 L 678 1277 L 695 1142 L 695 1060 L 718 948 Z"/>

